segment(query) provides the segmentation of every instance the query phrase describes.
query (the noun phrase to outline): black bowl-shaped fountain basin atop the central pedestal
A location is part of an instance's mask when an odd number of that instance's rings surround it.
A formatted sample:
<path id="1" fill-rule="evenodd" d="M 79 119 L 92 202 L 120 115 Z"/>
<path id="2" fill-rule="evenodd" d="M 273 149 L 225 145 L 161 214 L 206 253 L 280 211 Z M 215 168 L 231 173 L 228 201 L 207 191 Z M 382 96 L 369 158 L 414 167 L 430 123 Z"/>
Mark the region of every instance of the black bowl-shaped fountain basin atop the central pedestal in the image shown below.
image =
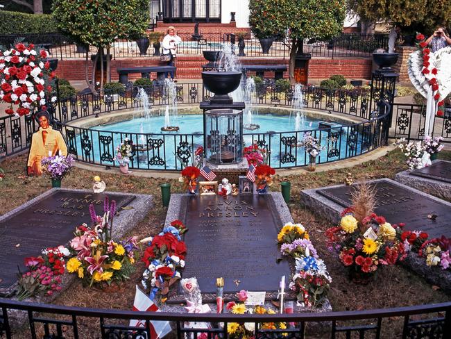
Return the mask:
<path id="1" fill-rule="evenodd" d="M 236 90 L 241 82 L 241 72 L 202 72 L 203 85 L 214 94 L 228 94 Z"/>

